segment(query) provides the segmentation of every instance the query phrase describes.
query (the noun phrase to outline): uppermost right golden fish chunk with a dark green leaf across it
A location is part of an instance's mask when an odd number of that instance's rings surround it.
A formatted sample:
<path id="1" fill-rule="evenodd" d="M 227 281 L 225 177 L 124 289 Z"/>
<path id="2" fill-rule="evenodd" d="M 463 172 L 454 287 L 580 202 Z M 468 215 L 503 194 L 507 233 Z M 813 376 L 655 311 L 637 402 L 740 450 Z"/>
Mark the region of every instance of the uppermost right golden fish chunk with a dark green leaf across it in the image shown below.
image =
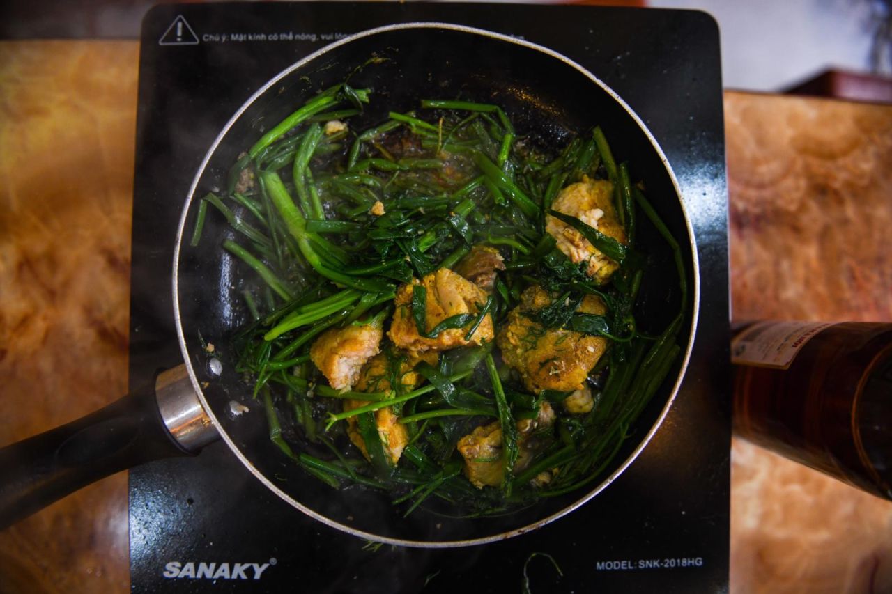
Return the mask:
<path id="1" fill-rule="evenodd" d="M 604 179 L 583 177 L 581 182 L 566 186 L 560 191 L 551 209 L 582 220 L 604 235 L 619 243 L 626 243 L 625 230 L 616 218 L 613 204 L 613 184 Z M 619 268 L 619 264 L 607 258 L 579 231 L 551 215 L 546 217 L 545 230 L 558 242 L 558 249 L 578 264 L 588 262 L 586 273 L 599 283 L 606 283 Z"/>

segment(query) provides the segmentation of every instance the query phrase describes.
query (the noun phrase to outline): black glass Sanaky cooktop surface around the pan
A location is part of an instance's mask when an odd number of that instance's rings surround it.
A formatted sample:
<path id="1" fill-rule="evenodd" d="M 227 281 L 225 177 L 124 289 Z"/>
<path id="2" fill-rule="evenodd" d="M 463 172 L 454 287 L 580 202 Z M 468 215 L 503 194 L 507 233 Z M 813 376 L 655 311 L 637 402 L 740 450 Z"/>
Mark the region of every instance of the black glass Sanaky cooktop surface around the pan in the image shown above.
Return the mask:
<path id="1" fill-rule="evenodd" d="M 194 458 L 138 467 L 129 475 L 132 589 L 501 592 L 522 588 L 525 567 L 533 592 L 726 591 L 727 191 L 718 30 L 703 13 L 529 4 L 154 8 L 140 54 L 131 387 L 181 361 L 170 297 L 174 239 L 219 128 L 302 56 L 402 21 L 464 24 L 545 45 L 640 115 L 678 177 L 697 239 L 700 314 L 681 392 L 648 447 L 597 497 L 534 532 L 462 549 L 382 546 L 319 524 L 268 491 L 222 441 Z"/>

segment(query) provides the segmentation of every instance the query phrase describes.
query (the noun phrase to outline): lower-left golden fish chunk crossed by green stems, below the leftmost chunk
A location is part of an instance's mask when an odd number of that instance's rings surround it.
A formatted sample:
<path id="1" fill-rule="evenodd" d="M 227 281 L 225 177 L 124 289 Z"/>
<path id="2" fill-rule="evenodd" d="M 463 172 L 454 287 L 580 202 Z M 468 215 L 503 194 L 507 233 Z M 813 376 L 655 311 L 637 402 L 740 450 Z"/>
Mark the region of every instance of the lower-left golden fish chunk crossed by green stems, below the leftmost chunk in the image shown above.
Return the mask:
<path id="1" fill-rule="evenodd" d="M 403 356 L 399 362 L 399 370 L 395 373 L 400 374 L 400 384 L 405 391 L 410 391 L 421 384 L 424 379 L 413 369 L 420 362 L 426 361 L 431 365 L 437 363 L 437 353 L 425 353 L 421 357 Z M 386 353 L 378 353 L 375 357 L 368 361 L 362 367 L 359 373 L 359 379 L 356 382 L 357 392 L 387 392 L 391 390 L 391 377 L 394 374 L 392 369 L 392 359 Z M 368 404 L 367 400 L 344 400 L 343 409 L 352 410 Z M 390 407 L 376 410 L 375 425 L 378 430 L 378 436 L 384 446 L 384 453 L 391 459 L 393 464 L 400 460 L 402 450 L 405 449 L 409 442 L 409 432 L 406 426 L 400 423 L 400 417 L 393 414 Z M 368 459 L 368 450 L 366 442 L 363 441 L 362 435 L 359 433 L 359 427 L 356 417 L 347 417 L 347 436 L 353 442 L 362 455 Z"/>

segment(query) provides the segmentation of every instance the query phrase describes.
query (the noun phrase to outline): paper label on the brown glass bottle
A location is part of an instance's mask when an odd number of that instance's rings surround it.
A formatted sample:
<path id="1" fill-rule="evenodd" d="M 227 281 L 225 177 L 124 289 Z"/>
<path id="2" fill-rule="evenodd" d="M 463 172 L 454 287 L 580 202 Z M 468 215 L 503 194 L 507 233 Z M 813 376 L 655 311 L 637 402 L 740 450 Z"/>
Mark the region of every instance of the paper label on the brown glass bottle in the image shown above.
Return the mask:
<path id="1" fill-rule="evenodd" d="M 805 342 L 833 322 L 756 322 L 731 341 L 731 363 L 787 369 Z"/>

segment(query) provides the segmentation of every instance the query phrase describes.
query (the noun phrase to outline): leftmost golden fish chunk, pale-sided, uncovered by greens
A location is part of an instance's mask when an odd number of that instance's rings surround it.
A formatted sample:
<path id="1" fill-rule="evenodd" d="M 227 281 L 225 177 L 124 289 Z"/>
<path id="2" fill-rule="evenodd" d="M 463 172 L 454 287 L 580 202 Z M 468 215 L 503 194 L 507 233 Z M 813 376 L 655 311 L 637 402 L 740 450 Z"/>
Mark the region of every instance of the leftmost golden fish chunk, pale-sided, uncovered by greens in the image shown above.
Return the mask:
<path id="1" fill-rule="evenodd" d="M 310 347 L 310 359 L 335 390 L 349 390 L 359 370 L 380 350 L 384 328 L 380 324 L 331 328 Z"/>

